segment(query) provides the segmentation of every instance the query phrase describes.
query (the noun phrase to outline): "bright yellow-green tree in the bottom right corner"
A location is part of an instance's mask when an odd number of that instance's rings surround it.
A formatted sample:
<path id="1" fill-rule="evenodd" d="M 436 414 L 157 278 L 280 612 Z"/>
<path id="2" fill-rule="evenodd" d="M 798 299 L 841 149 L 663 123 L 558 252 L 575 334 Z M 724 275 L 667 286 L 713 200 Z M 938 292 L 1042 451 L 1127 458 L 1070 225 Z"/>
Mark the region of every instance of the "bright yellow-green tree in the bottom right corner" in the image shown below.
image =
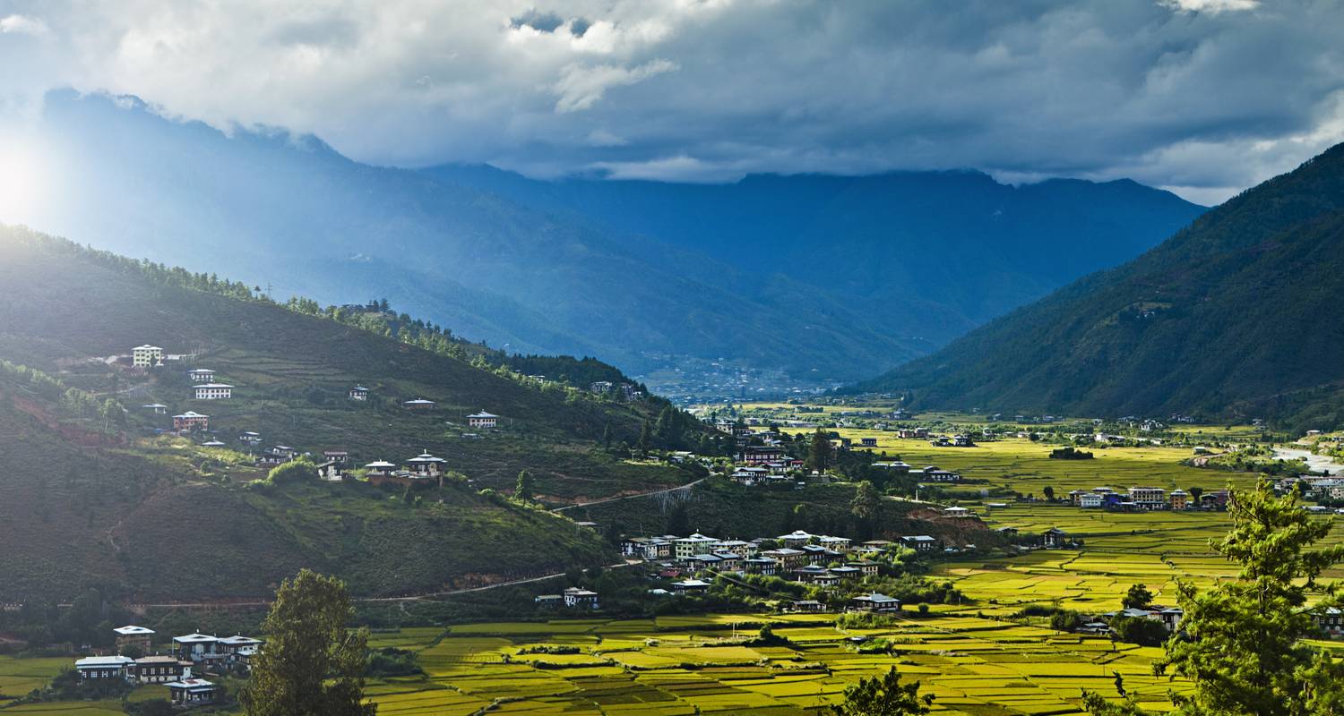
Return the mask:
<path id="1" fill-rule="evenodd" d="M 1344 713 L 1344 664 L 1308 642 L 1318 634 L 1309 596 L 1322 595 L 1314 609 L 1339 605 L 1336 584 L 1317 579 L 1344 560 L 1344 545 L 1310 549 L 1332 523 L 1302 510 L 1297 494 L 1275 497 L 1263 480 L 1234 492 L 1228 512 L 1232 528 L 1214 548 L 1241 570 L 1203 591 L 1177 582 L 1181 634 L 1167 641 L 1154 672 L 1193 684 L 1188 696 L 1172 696 L 1187 716 Z M 1097 693 L 1086 693 L 1085 705 L 1107 716 L 1142 713 L 1132 700 L 1114 704 Z"/>

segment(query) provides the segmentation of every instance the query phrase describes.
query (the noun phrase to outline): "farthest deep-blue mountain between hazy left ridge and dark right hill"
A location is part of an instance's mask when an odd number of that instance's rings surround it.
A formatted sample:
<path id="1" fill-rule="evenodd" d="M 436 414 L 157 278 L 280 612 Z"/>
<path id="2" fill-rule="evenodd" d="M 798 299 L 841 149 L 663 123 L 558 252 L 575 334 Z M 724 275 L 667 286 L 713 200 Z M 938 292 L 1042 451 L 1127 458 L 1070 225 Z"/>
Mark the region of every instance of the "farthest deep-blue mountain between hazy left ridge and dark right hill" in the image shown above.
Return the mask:
<path id="1" fill-rule="evenodd" d="M 785 275 L 882 316 L 887 330 L 937 344 L 1128 261 L 1203 211 L 1128 180 L 1011 187 L 969 171 L 751 175 L 732 184 L 425 172 Z"/>

